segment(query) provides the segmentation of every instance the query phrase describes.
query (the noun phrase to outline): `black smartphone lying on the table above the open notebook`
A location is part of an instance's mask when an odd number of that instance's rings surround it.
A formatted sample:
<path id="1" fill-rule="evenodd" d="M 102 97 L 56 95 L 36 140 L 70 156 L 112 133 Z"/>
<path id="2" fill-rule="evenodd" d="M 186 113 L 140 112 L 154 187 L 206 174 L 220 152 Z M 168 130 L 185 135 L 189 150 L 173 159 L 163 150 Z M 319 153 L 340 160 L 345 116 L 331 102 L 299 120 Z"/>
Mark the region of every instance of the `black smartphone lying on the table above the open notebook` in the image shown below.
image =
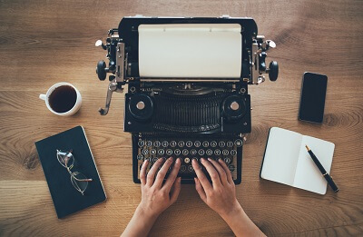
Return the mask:
<path id="1" fill-rule="evenodd" d="M 322 123 L 328 76 L 325 74 L 305 73 L 302 76 L 299 120 Z"/>

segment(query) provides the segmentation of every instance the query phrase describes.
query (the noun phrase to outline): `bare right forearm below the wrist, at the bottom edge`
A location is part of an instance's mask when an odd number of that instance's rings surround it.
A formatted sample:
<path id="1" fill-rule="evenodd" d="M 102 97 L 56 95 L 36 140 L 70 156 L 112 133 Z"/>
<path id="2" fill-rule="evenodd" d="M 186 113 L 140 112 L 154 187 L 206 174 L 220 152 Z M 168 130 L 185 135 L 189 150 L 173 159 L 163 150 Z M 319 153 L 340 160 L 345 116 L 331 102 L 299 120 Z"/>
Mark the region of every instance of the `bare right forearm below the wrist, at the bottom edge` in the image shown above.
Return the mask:
<path id="1" fill-rule="evenodd" d="M 265 236 L 239 205 L 233 212 L 221 214 L 236 236 Z"/>

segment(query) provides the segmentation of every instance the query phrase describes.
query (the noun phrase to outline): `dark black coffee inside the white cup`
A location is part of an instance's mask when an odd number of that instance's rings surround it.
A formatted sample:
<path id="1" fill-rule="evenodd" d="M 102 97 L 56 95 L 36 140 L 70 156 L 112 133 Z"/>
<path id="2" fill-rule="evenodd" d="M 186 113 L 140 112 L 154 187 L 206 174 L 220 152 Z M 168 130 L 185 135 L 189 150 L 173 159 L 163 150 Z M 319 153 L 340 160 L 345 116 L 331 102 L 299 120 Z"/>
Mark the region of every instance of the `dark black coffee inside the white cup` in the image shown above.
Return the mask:
<path id="1" fill-rule="evenodd" d="M 77 93 L 74 87 L 61 85 L 49 95 L 49 105 L 56 113 L 65 113 L 70 111 L 77 101 Z"/>

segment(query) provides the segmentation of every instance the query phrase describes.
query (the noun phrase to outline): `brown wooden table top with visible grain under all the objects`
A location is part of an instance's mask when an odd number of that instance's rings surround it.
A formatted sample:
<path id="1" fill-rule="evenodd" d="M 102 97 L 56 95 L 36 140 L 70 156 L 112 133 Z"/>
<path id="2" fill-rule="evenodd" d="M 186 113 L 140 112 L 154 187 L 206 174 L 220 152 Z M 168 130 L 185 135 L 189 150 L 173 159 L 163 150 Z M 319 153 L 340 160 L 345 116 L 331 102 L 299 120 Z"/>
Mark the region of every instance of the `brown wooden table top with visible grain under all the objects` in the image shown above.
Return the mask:
<path id="1" fill-rule="evenodd" d="M 140 202 L 132 183 L 130 133 L 123 133 L 123 94 L 113 94 L 100 116 L 107 83 L 94 47 L 125 15 L 251 16 L 259 34 L 277 44 L 277 82 L 250 86 L 252 132 L 244 146 L 237 195 L 253 222 L 268 235 L 363 234 L 363 5 L 361 1 L 2 1 L 0 3 L 0 235 L 117 236 Z M 301 76 L 328 74 L 322 124 L 297 119 Z M 51 114 L 38 95 L 57 82 L 83 95 L 72 117 Z M 58 220 L 34 142 L 83 125 L 108 199 Z M 260 180 L 270 126 L 336 144 L 331 173 L 340 187 L 326 195 Z M 231 236 L 225 222 L 183 185 L 162 213 L 152 236 Z"/>

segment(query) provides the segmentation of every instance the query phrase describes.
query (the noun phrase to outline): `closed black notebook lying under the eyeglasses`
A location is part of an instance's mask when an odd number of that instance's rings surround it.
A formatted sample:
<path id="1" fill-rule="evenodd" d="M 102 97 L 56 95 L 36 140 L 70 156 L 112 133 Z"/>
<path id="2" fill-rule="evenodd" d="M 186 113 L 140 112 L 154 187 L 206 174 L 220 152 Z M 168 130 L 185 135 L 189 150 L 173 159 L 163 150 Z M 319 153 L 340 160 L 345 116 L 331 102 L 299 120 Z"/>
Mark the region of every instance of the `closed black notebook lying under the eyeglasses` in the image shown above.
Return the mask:
<path id="1" fill-rule="evenodd" d="M 58 218 L 63 218 L 106 199 L 103 184 L 82 126 L 76 126 L 63 133 L 35 142 L 35 146 Z M 87 178 L 93 179 L 88 183 L 84 195 L 74 188 L 70 173 L 58 162 L 57 149 L 72 150 L 74 167 L 71 172 L 83 173 Z"/>

